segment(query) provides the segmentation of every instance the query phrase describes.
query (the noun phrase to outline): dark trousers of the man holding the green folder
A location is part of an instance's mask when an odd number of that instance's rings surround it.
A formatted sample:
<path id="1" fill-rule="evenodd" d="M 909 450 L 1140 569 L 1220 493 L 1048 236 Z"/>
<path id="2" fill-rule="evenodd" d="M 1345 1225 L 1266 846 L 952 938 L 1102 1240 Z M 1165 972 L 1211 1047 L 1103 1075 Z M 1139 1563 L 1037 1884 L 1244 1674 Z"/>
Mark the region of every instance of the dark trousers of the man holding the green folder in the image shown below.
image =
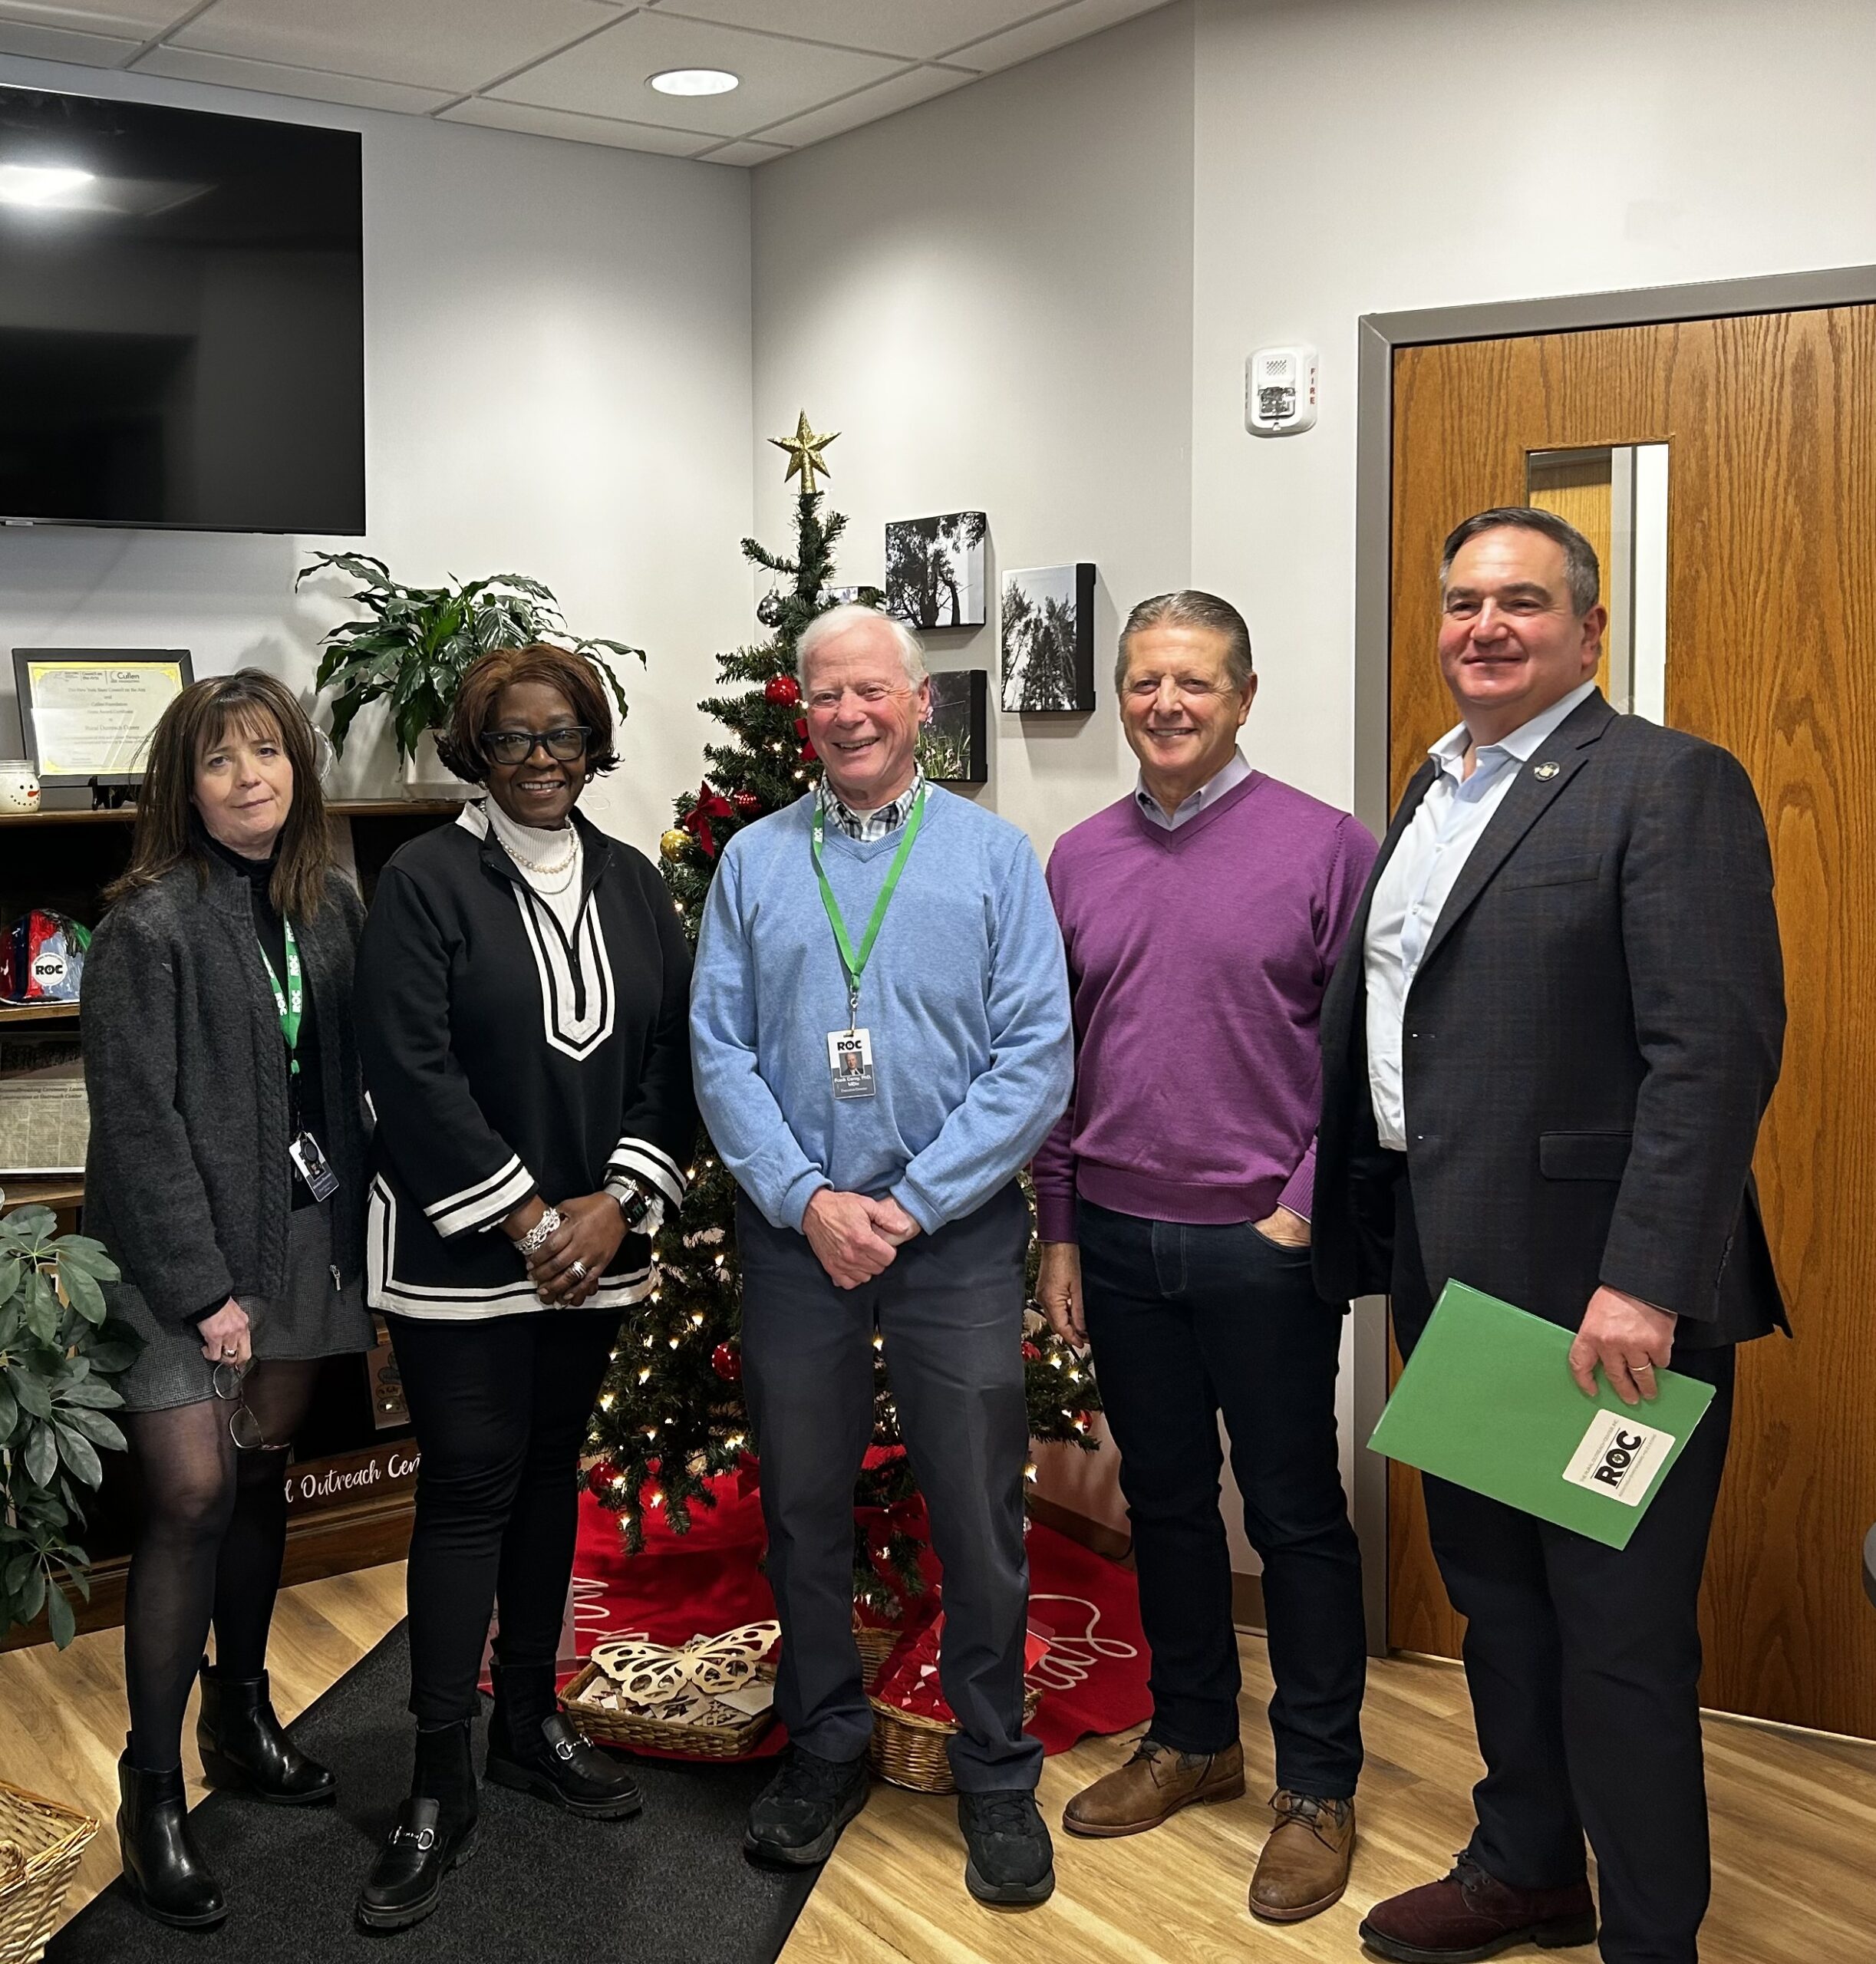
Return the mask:
<path id="1" fill-rule="evenodd" d="M 1393 1308 L 1408 1353 L 1432 1290 L 1405 1173 Z M 1605 1964 L 1693 1964 L 1711 1885 L 1697 1605 L 1733 1426 L 1733 1349 L 1678 1345 L 1672 1365 L 1713 1385 L 1713 1402 L 1623 1550 L 1422 1479 L 1434 1559 L 1467 1618 L 1485 1760 L 1469 1854 L 1513 1887 L 1562 1887 L 1583 1880 L 1587 1832 Z"/>

